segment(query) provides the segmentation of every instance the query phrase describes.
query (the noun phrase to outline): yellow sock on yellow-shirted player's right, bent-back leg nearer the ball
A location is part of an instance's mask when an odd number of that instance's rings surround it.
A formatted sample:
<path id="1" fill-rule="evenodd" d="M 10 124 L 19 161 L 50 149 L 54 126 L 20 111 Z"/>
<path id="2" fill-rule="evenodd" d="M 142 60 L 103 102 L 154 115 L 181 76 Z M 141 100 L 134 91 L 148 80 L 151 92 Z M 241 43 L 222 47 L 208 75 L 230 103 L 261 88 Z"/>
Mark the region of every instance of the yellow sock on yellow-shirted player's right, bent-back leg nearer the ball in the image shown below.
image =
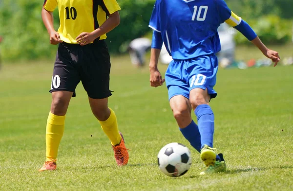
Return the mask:
<path id="1" fill-rule="evenodd" d="M 111 108 L 109 109 L 111 111 L 109 118 L 104 122 L 101 122 L 101 121 L 99 122 L 102 126 L 103 131 L 105 132 L 107 137 L 110 139 L 111 144 L 117 145 L 120 143 L 122 138 L 118 131 L 118 123 L 117 123 L 116 115 Z"/>

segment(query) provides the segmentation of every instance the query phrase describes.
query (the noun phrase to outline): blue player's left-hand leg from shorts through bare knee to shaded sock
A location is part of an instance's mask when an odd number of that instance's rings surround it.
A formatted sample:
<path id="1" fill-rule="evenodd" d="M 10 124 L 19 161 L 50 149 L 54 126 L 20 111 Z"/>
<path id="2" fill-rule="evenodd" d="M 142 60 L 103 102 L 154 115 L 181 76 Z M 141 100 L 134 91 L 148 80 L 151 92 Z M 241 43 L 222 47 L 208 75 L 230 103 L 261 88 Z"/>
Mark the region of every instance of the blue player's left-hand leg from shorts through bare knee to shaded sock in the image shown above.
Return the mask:
<path id="1" fill-rule="evenodd" d="M 182 80 L 182 70 L 184 70 L 182 67 L 182 61 L 171 61 L 168 65 L 165 79 L 169 104 L 182 135 L 192 147 L 200 152 L 200 134 L 198 126 L 191 119 L 191 105 L 188 100 L 189 89 L 186 81 Z"/>

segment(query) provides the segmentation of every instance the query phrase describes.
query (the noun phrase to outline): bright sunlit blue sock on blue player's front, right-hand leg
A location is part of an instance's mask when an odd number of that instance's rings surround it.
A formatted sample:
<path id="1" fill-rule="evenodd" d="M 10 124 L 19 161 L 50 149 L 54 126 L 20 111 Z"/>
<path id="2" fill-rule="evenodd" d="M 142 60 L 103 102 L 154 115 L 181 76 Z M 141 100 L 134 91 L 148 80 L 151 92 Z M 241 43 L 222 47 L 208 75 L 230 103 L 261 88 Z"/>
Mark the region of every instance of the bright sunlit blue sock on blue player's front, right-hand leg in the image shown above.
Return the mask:
<path id="1" fill-rule="evenodd" d="M 198 129 L 201 135 L 201 145 L 212 147 L 214 133 L 214 114 L 207 104 L 198 105 L 194 111 L 197 116 Z"/>

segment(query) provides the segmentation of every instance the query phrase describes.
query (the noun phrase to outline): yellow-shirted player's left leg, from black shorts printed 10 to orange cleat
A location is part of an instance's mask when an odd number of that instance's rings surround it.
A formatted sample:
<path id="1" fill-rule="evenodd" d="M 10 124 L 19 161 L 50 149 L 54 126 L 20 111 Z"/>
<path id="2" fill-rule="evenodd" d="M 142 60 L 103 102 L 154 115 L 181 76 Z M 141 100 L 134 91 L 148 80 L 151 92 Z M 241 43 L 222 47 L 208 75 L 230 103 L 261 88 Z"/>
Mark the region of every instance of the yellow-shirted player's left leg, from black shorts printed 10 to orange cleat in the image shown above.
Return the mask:
<path id="1" fill-rule="evenodd" d="M 63 137 L 65 114 L 75 87 L 80 79 L 69 53 L 68 47 L 59 45 L 54 64 L 51 90 L 52 103 L 46 124 L 46 162 L 39 170 L 55 170 L 58 148 Z M 69 50 L 70 51 L 70 50 Z"/>

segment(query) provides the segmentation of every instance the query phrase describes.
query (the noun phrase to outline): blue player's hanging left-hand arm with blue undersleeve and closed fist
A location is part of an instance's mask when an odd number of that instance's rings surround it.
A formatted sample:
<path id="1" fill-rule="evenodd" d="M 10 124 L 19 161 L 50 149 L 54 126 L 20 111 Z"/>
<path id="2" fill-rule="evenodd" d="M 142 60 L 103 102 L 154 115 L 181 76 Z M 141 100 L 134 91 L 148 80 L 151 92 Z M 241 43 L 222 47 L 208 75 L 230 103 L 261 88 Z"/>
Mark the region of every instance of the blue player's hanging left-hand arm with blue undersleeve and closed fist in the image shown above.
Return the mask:
<path id="1" fill-rule="evenodd" d="M 161 33 L 153 31 L 152 44 L 150 49 L 150 62 L 149 62 L 149 71 L 150 71 L 150 86 L 158 87 L 162 86 L 165 82 L 165 79 L 162 79 L 162 75 L 158 69 L 159 56 L 163 45 L 163 38 Z"/>

